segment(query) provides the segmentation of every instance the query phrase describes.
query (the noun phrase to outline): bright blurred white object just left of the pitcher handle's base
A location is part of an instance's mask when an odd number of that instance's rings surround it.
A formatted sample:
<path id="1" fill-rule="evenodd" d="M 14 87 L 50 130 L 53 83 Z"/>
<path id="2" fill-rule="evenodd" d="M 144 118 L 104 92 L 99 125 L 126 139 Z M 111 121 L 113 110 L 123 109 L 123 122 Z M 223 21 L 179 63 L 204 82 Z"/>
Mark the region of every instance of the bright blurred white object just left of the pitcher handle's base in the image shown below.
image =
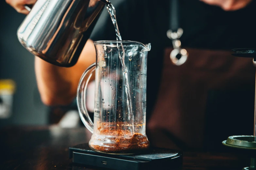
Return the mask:
<path id="1" fill-rule="evenodd" d="M 80 117 L 77 110 L 68 111 L 60 120 L 61 128 L 75 128 L 79 126 Z"/>

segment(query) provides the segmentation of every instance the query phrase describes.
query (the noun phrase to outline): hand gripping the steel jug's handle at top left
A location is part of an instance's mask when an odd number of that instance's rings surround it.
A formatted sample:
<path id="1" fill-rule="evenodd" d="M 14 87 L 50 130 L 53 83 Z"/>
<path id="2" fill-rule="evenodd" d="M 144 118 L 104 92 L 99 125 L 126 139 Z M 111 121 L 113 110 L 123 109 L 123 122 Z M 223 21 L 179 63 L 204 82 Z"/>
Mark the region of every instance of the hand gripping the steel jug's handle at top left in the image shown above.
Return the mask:
<path id="1" fill-rule="evenodd" d="M 24 7 L 25 5 L 34 5 L 37 0 L 5 0 L 7 4 L 12 6 L 17 12 L 28 14 L 29 11 Z"/>

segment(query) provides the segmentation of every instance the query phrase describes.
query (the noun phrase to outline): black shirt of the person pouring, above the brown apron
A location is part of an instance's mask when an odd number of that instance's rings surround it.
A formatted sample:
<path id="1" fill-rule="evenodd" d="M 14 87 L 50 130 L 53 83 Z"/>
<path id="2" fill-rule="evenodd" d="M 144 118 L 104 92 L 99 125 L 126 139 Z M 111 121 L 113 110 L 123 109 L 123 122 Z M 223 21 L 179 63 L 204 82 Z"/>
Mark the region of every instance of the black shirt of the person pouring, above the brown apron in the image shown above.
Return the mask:
<path id="1" fill-rule="evenodd" d="M 256 47 L 255 1 L 237 11 L 224 11 L 199 0 L 180 0 L 179 3 L 179 22 L 184 30 L 180 38 L 182 47 L 216 50 Z M 166 36 L 169 8 L 169 0 L 126 0 L 115 7 L 122 39 L 152 46 L 147 64 L 147 114 L 157 97 L 164 49 L 172 47 L 172 41 Z M 110 16 L 91 39 L 116 39 Z"/>

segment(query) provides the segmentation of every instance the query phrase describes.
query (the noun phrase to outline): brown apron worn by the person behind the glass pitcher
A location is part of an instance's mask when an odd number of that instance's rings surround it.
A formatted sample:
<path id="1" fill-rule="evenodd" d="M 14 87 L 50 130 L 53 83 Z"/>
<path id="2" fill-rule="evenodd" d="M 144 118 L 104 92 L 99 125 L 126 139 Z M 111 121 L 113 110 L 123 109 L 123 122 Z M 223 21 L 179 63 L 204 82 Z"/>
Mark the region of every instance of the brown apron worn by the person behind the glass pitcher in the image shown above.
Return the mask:
<path id="1" fill-rule="evenodd" d="M 176 66 L 170 61 L 172 50 L 164 53 L 160 90 L 147 122 L 148 136 L 157 147 L 202 148 L 209 90 L 254 84 L 255 67 L 251 58 L 234 57 L 229 51 L 197 49 L 186 49 L 187 62 Z"/>

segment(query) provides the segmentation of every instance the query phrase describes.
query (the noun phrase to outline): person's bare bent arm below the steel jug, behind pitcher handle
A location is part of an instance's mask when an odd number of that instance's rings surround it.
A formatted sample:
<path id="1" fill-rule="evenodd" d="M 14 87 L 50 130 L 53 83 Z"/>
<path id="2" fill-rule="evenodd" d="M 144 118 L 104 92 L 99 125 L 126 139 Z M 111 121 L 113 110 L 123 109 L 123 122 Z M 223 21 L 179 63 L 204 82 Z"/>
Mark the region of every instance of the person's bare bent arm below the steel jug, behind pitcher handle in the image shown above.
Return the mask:
<path id="1" fill-rule="evenodd" d="M 43 103 L 48 106 L 70 104 L 83 72 L 95 62 L 95 55 L 93 41 L 89 39 L 73 67 L 55 66 L 35 57 L 37 85 Z"/>

